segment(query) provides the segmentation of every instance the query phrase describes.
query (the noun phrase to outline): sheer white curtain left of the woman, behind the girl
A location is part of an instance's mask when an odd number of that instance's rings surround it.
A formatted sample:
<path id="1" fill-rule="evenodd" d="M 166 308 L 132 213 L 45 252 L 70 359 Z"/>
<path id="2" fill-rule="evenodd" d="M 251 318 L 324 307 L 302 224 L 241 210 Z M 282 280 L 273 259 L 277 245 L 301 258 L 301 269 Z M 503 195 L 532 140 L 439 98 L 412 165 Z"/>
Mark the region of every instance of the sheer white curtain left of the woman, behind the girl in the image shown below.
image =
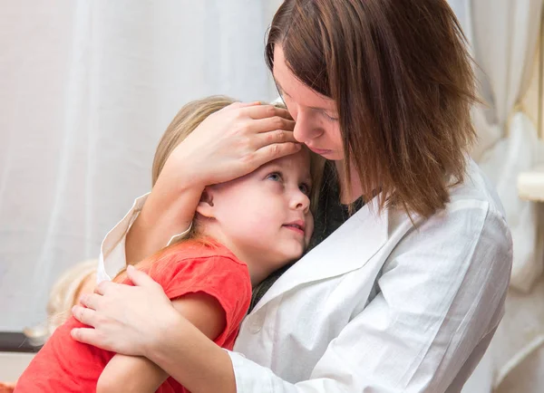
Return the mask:
<path id="1" fill-rule="evenodd" d="M 184 103 L 276 97 L 280 3 L 0 1 L 0 331 L 43 321 L 58 275 L 98 256 Z"/>

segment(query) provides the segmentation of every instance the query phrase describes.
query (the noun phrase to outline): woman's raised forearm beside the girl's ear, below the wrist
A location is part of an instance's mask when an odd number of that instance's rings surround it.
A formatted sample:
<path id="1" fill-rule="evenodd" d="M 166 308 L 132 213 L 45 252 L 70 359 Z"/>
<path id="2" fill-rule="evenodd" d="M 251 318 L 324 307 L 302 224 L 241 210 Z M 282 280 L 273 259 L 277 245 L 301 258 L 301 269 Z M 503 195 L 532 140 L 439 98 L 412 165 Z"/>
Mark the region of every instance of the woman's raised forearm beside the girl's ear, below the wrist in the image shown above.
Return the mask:
<path id="1" fill-rule="evenodd" d="M 173 235 L 188 229 L 203 190 L 203 186 L 196 184 L 172 189 L 163 186 L 159 179 L 127 234 L 127 264 L 156 253 Z"/>

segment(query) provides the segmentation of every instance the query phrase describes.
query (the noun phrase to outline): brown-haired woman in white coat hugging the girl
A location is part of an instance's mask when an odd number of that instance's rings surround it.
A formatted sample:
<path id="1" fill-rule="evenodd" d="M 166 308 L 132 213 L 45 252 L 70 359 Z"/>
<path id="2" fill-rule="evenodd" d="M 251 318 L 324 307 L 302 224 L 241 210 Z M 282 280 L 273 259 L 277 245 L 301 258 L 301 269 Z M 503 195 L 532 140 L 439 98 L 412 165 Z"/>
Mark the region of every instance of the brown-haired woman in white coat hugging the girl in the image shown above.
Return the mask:
<path id="1" fill-rule="evenodd" d="M 83 298 L 74 315 L 95 329 L 74 339 L 147 357 L 193 392 L 460 391 L 500 321 L 512 249 L 467 158 L 473 74 L 452 10 L 287 0 L 267 62 L 293 133 L 255 104 L 202 123 L 104 241 L 106 273 L 185 230 L 207 184 L 294 151 L 294 139 L 328 160 L 316 247 L 256 291 L 233 352 L 140 273 L 135 287 L 102 283 Z"/>

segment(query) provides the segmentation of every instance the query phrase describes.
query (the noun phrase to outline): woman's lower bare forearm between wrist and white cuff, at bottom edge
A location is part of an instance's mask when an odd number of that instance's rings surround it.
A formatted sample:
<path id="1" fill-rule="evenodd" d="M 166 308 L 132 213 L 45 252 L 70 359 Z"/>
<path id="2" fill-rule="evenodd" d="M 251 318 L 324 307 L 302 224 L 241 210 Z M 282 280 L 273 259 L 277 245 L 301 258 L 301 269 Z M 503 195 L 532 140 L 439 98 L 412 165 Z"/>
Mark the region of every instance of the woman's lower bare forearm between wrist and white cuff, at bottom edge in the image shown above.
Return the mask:
<path id="1" fill-rule="evenodd" d="M 236 393 L 228 352 L 180 315 L 173 317 L 146 357 L 193 393 Z"/>

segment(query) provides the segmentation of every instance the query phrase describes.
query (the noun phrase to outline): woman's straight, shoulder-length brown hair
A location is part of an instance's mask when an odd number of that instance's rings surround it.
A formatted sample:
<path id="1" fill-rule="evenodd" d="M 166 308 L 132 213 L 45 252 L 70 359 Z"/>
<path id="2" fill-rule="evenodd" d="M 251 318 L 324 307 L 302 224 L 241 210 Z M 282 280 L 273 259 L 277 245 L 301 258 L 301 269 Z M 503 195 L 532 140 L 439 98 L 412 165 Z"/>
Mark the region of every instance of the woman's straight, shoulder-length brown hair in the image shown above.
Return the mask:
<path id="1" fill-rule="evenodd" d="M 474 77 L 445 0 L 286 0 L 267 38 L 314 91 L 336 101 L 345 148 L 379 208 L 431 216 L 463 179 L 475 139 Z M 349 189 L 349 188 L 348 188 Z"/>

